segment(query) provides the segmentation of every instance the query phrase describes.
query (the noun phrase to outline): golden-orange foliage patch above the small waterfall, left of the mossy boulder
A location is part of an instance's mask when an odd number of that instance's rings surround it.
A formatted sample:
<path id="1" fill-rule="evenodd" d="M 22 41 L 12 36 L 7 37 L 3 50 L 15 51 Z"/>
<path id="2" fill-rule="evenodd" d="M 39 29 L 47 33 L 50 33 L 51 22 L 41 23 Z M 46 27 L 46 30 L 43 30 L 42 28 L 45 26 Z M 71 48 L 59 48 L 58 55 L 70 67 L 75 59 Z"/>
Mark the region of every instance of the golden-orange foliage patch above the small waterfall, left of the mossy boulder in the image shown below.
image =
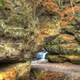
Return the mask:
<path id="1" fill-rule="evenodd" d="M 35 41 L 38 45 L 40 45 L 46 37 L 52 36 L 56 34 L 54 29 L 49 28 L 47 24 L 45 24 L 42 28 L 39 29 Z"/>

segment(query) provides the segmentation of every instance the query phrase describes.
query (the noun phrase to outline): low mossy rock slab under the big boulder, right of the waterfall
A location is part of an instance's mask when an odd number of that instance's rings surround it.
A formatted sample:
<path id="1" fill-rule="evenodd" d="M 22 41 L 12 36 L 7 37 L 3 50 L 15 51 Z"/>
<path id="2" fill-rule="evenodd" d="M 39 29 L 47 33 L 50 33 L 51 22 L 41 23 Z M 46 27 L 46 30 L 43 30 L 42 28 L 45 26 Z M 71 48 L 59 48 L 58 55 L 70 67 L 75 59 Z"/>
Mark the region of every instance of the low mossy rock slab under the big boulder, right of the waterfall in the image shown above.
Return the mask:
<path id="1" fill-rule="evenodd" d="M 80 64 L 80 54 L 69 55 L 47 55 L 47 59 L 52 63 L 71 62 L 74 64 Z"/>

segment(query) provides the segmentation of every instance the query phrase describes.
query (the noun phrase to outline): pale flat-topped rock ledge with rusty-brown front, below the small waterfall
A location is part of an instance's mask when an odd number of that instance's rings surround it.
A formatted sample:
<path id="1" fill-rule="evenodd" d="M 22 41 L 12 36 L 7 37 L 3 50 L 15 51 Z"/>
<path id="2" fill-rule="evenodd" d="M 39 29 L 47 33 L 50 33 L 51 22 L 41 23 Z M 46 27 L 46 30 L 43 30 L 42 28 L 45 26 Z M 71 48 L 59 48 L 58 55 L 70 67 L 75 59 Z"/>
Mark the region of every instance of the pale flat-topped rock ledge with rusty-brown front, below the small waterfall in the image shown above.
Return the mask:
<path id="1" fill-rule="evenodd" d="M 79 80 L 80 65 L 71 63 L 32 63 L 31 80 Z"/>

